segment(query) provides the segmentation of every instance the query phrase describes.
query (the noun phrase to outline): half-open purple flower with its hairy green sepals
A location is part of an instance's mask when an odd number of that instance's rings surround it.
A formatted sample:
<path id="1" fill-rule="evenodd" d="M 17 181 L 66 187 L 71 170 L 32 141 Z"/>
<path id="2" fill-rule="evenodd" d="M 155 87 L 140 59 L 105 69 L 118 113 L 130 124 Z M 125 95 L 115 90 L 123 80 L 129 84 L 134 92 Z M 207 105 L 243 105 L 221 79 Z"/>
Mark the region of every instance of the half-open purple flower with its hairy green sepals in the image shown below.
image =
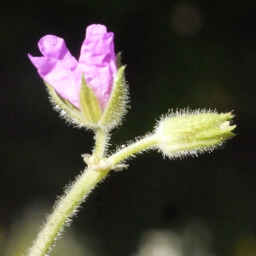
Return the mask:
<path id="1" fill-rule="evenodd" d="M 90 25 L 79 61 L 65 41 L 53 35 L 39 40 L 43 56 L 28 55 L 48 87 L 51 102 L 71 123 L 89 129 L 110 130 L 125 114 L 127 90 L 125 67 L 117 65 L 113 32 Z"/>

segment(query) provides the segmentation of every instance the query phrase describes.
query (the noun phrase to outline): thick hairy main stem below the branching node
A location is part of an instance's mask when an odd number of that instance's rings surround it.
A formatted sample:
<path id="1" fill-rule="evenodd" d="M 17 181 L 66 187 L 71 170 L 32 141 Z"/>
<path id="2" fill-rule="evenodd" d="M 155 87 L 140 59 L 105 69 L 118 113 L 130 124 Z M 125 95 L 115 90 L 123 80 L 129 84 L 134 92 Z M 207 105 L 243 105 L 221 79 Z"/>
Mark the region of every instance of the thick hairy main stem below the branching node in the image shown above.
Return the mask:
<path id="1" fill-rule="evenodd" d="M 28 256 L 44 256 L 49 252 L 49 248 L 60 235 L 65 224 L 76 213 L 80 203 L 95 188 L 96 183 L 107 176 L 108 172 L 109 170 L 97 172 L 87 168 L 77 177 L 76 182 L 67 189 L 66 195 L 56 203 L 54 212 L 49 216 L 47 223 L 38 234 L 37 240 L 29 249 Z"/>

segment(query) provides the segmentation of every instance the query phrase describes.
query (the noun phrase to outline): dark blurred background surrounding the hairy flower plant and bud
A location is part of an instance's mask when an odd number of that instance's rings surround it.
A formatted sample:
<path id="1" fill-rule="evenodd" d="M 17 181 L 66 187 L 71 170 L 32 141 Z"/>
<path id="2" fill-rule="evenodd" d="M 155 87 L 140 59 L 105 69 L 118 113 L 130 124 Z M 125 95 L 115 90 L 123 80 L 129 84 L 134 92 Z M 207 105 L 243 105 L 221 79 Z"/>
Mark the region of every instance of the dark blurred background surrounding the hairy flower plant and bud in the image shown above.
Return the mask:
<path id="1" fill-rule="evenodd" d="M 171 161 L 149 152 L 111 172 L 52 255 L 256 255 L 255 1 L 0 3 L 1 255 L 31 244 L 93 146 L 90 131 L 52 109 L 26 54 L 40 55 L 38 39 L 54 34 L 79 57 L 92 23 L 115 33 L 127 65 L 131 109 L 113 149 L 152 131 L 170 108 L 234 110 L 237 136 L 212 154 Z"/>

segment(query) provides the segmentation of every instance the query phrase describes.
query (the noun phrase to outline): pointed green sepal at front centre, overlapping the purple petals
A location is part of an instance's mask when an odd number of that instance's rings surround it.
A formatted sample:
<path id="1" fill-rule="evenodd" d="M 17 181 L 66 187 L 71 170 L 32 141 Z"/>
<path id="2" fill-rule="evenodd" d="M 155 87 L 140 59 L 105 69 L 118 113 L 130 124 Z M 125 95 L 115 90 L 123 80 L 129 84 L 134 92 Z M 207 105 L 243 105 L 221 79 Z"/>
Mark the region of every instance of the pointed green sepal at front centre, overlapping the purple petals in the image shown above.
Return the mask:
<path id="1" fill-rule="evenodd" d="M 80 108 L 92 125 L 96 125 L 101 118 L 102 108 L 99 105 L 98 99 L 94 91 L 86 84 L 84 75 L 82 76 L 81 90 L 80 90 Z"/>

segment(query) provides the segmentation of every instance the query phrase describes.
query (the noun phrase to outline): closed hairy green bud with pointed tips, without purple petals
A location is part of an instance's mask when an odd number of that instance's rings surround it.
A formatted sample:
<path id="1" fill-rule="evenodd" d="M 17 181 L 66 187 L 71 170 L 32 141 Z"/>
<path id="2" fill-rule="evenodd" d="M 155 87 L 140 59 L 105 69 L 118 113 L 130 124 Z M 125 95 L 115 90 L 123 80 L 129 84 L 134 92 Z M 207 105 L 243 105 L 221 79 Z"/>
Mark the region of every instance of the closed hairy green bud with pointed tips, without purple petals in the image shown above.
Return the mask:
<path id="1" fill-rule="evenodd" d="M 211 110 L 169 113 L 155 127 L 158 148 L 171 159 L 211 152 L 233 137 L 236 125 L 230 125 L 232 113 Z"/>

